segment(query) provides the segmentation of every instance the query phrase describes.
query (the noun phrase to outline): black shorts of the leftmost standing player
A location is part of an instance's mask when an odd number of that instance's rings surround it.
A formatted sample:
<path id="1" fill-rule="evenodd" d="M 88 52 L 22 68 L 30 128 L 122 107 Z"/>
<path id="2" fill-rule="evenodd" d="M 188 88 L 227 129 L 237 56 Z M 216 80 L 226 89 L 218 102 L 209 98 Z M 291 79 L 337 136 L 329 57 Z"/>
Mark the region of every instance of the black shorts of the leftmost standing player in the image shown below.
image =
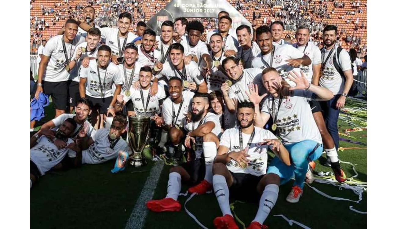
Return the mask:
<path id="1" fill-rule="evenodd" d="M 57 110 L 66 110 L 67 108 L 67 81 L 61 82 L 48 82 L 42 81 L 43 93 L 50 95 L 52 104 Z"/>

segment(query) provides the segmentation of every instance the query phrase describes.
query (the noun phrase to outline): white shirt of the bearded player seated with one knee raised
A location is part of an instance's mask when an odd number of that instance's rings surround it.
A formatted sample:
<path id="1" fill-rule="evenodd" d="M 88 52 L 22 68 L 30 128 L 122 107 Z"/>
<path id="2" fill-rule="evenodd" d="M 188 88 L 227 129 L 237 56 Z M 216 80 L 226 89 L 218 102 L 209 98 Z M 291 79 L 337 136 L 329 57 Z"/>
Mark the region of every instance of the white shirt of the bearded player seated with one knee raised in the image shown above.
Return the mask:
<path id="1" fill-rule="evenodd" d="M 214 135 L 218 136 L 220 135 L 221 131 L 222 131 L 222 127 L 221 124 L 219 122 L 219 118 L 218 116 L 216 116 L 215 114 L 212 113 L 207 113 L 202 119 L 198 120 L 198 121 L 190 121 L 189 123 L 186 122 L 186 119 L 183 119 L 182 121 L 182 125 L 183 128 L 185 130 L 187 130 L 187 132 L 191 132 L 194 131 L 195 129 L 197 129 L 200 125 L 203 125 L 209 121 L 212 121 L 215 124 L 215 127 L 211 130 L 211 133 L 213 133 Z M 196 159 L 200 158 L 203 150 L 202 150 L 202 137 L 195 137 L 195 154 L 196 154 Z"/>

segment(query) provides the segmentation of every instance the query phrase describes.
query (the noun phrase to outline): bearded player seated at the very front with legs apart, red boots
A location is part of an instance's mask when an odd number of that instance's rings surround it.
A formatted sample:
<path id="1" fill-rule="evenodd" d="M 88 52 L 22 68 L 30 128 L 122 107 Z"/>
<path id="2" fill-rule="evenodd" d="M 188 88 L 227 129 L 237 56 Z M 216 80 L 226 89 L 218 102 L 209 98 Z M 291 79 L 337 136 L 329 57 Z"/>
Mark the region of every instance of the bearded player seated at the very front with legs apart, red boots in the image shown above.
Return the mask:
<path id="1" fill-rule="evenodd" d="M 244 101 L 237 109 L 238 127 L 222 134 L 218 155 L 214 160 L 212 179 L 214 193 L 222 215 L 214 219 L 217 229 L 238 229 L 229 206 L 229 193 L 249 198 L 260 194 L 259 208 L 248 229 L 261 229 L 262 223 L 274 207 L 278 197 L 280 178 L 266 174 L 267 151 L 272 150 L 281 163 L 290 165 L 287 149 L 274 134 L 253 125 L 254 104 Z M 238 136 L 238 137 L 237 137 Z M 258 196 L 259 197 L 259 196 Z"/>

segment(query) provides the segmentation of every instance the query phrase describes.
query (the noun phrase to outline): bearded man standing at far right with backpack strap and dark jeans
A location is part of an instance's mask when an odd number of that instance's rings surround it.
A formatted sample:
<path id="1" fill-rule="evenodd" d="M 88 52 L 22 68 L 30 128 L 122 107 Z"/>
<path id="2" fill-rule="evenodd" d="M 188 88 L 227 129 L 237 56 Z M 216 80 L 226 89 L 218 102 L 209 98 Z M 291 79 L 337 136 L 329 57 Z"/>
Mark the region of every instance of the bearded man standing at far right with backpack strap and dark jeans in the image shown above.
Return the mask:
<path id="1" fill-rule="evenodd" d="M 353 84 L 353 73 L 349 54 L 336 42 L 337 27 L 327 25 L 323 31 L 324 48 L 321 51 L 322 76 L 313 75 L 313 84 L 330 89 L 333 98 L 321 102 L 326 127 L 331 134 L 335 148 L 328 152 L 333 170 L 337 169 L 337 149 L 339 147 L 338 117 L 340 109 L 345 107 L 347 93 Z M 332 156 L 331 156 L 332 155 Z M 338 173 L 336 173 L 338 174 Z"/>

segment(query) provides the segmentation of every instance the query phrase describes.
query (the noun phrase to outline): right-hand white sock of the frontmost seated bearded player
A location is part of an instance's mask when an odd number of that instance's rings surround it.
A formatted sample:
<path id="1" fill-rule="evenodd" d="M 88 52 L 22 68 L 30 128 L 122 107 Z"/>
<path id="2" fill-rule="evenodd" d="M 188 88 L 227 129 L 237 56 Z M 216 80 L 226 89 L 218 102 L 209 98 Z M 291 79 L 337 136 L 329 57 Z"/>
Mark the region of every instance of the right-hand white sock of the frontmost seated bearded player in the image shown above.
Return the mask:
<path id="1" fill-rule="evenodd" d="M 255 219 L 252 220 L 262 224 L 268 217 L 270 210 L 276 204 L 278 197 L 278 185 L 270 184 L 266 185 L 265 190 L 262 192 L 259 200 L 258 212 L 256 212 Z"/>

